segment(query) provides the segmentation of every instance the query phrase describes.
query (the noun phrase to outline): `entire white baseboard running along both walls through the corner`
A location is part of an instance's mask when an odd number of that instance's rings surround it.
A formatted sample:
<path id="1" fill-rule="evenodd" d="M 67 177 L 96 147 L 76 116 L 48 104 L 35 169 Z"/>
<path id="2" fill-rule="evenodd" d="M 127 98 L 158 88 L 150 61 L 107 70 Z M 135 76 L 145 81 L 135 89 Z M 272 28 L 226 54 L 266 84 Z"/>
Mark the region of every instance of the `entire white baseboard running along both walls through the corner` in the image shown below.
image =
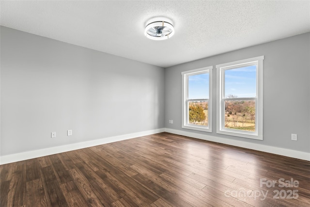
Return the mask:
<path id="1" fill-rule="evenodd" d="M 159 129 L 142 131 L 142 132 L 137 132 L 137 133 L 132 133 L 132 134 L 107 137 L 107 138 L 92 140 L 92 141 L 87 141 L 87 142 L 73 143 L 73 144 L 67 144 L 67 145 L 62 145 L 62 146 L 57 146 L 57 147 L 50 147 L 50 148 L 45 148 L 45 149 L 5 155 L 5 156 L 0 157 L 0 164 L 7 164 L 11 162 L 26 160 L 26 159 L 39 158 L 39 157 L 43 157 L 47 155 L 53 155 L 57 153 L 82 149 L 82 148 L 96 146 L 96 145 L 105 144 L 105 143 L 113 143 L 113 142 L 118 142 L 122 140 L 128 140 L 128 139 L 141 137 L 141 136 L 147 136 L 147 135 L 156 134 L 160 132 L 169 132 L 172 134 L 193 137 L 193 138 L 197 138 L 201 140 L 207 140 L 207 141 L 216 142 L 216 143 L 224 143 L 224 144 L 229 144 L 233 146 L 244 147 L 244 148 L 258 150 L 262 152 L 268 152 L 268 153 L 272 153 L 276 155 L 282 155 L 286 157 L 304 159 L 304 160 L 310 161 L 310 153 L 307 153 L 307 152 L 300 152 L 296 150 L 279 148 L 279 147 L 274 147 L 274 146 L 267 146 L 267 145 L 257 144 L 257 143 L 236 141 L 236 140 L 220 138 L 220 137 L 204 135 L 204 134 L 197 134 L 194 132 L 181 131 L 181 130 L 176 130 L 176 129 L 171 129 L 171 128 L 159 128 Z"/>

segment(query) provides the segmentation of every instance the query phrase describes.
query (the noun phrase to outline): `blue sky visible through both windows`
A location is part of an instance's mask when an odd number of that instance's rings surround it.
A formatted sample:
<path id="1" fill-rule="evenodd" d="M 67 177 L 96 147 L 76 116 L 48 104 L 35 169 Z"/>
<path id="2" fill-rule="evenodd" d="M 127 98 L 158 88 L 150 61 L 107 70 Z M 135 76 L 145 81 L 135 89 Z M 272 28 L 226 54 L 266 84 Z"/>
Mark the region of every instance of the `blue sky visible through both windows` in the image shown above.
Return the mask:
<path id="1" fill-rule="evenodd" d="M 256 65 L 225 70 L 224 96 L 256 96 Z M 209 98 L 209 73 L 188 77 L 188 99 Z"/>

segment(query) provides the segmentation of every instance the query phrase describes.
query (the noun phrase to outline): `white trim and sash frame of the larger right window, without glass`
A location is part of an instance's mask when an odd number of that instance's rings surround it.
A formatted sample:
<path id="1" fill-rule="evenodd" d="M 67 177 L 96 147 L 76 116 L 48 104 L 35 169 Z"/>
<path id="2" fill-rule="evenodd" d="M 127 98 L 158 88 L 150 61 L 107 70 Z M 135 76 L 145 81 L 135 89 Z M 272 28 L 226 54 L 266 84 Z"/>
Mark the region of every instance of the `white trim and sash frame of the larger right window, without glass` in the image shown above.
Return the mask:
<path id="1" fill-rule="evenodd" d="M 256 139 L 256 140 L 263 140 L 263 59 L 264 56 L 249 58 L 245 60 L 225 63 L 225 64 L 218 64 L 216 65 L 217 68 L 217 133 L 218 134 L 225 134 L 231 136 L 238 136 L 244 137 L 249 139 Z M 258 67 L 256 70 L 256 97 L 249 98 L 255 99 L 255 109 L 256 109 L 256 116 L 255 116 L 255 127 L 256 132 L 250 131 L 242 131 L 236 129 L 227 129 L 223 126 L 223 114 L 224 114 L 224 107 L 223 107 L 223 69 L 226 67 L 232 68 L 237 67 L 238 65 L 246 64 L 246 63 L 253 63 L 257 62 Z M 243 65 L 242 65 L 243 66 Z M 236 98 L 238 100 L 245 99 L 249 100 L 248 98 Z"/>

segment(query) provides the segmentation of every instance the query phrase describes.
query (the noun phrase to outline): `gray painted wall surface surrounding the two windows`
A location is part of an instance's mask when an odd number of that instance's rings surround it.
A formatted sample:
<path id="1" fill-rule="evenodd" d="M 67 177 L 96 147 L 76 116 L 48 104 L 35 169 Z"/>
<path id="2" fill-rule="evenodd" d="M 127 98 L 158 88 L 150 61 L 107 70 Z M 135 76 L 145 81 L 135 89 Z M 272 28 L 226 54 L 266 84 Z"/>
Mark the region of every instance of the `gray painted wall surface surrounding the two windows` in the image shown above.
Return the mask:
<path id="1" fill-rule="evenodd" d="M 216 133 L 216 69 L 213 70 L 213 132 L 181 127 L 181 72 L 264 55 L 263 141 Z M 310 152 L 310 33 L 244 48 L 165 70 L 166 128 Z M 169 120 L 173 124 L 169 124 Z M 291 141 L 291 134 L 298 141 Z"/>

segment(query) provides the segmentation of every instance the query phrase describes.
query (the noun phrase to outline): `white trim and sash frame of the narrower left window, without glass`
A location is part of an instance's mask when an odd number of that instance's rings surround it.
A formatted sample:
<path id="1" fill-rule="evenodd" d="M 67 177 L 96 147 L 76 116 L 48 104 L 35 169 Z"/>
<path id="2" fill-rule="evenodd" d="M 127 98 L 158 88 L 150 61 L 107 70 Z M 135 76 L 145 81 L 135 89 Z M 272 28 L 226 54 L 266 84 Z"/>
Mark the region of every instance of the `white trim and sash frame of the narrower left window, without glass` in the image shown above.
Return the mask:
<path id="1" fill-rule="evenodd" d="M 182 72 L 182 128 L 186 129 L 192 129 L 192 130 L 198 130 L 198 131 L 206 131 L 206 132 L 212 132 L 212 69 L 213 66 L 208 67 L 202 67 L 194 70 L 188 70 Z M 208 99 L 208 126 L 202 127 L 198 125 L 190 125 L 187 124 L 186 120 L 187 117 L 187 76 L 193 75 L 193 74 L 200 74 L 209 72 L 209 99 Z M 202 99 L 197 99 L 202 100 Z M 206 100 L 206 99 L 204 99 Z"/>

